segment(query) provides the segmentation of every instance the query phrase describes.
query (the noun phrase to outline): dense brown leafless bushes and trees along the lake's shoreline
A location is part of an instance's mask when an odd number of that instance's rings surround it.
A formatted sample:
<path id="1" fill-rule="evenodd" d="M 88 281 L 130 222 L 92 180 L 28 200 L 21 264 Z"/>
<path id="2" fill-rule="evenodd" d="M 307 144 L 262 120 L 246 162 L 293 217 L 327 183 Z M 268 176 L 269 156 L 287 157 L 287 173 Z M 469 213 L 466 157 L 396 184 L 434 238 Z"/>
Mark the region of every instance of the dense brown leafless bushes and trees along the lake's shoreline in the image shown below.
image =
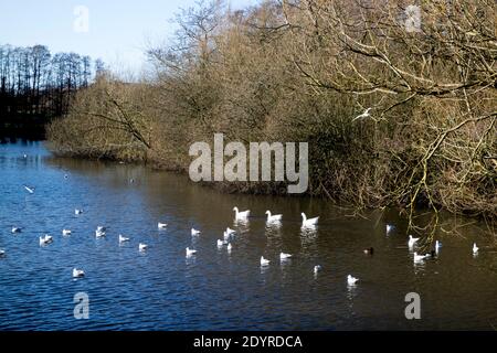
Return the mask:
<path id="1" fill-rule="evenodd" d="M 178 14 L 176 42 L 126 82 L 105 72 L 46 130 L 60 154 L 188 172 L 189 148 L 308 142 L 306 195 L 394 206 L 409 232 L 438 213 L 497 220 L 497 38 L 493 0 L 220 1 Z M 421 22 L 412 15 L 421 15 Z M 282 182 L 213 182 L 286 194 Z M 433 211 L 430 229 L 415 213 Z"/>

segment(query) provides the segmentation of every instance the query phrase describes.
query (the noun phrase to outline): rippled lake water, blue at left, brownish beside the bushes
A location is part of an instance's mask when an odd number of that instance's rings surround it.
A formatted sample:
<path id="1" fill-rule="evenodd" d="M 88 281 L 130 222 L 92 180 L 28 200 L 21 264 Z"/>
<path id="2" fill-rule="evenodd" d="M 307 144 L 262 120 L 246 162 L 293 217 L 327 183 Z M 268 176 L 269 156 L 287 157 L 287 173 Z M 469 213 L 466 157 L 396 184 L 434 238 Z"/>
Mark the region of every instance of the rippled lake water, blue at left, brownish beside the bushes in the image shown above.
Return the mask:
<path id="1" fill-rule="evenodd" d="M 222 194 L 139 165 L 55 158 L 42 142 L 0 145 L 0 330 L 497 328 L 497 253 L 484 224 L 444 218 L 438 257 L 414 264 L 395 211 L 352 217 L 322 200 Z M 234 224 L 235 205 L 252 211 L 247 224 Z M 266 210 L 283 213 L 281 227 L 266 226 Z M 320 216 L 315 232 L 300 229 L 300 212 Z M 388 236 L 387 223 L 396 227 Z M 231 253 L 215 244 L 226 226 Z M 40 246 L 45 233 L 54 242 Z M 198 254 L 187 258 L 187 246 Z M 370 246 L 373 256 L 362 253 Z M 281 264 L 281 252 L 292 259 Z M 86 276 L 73 279 L 74 267 Z M 88 295 L 88 320 L 74 318 L 77 292 Z M 409 292 L 420 295 L 420 320 L 405 318 Z"/>

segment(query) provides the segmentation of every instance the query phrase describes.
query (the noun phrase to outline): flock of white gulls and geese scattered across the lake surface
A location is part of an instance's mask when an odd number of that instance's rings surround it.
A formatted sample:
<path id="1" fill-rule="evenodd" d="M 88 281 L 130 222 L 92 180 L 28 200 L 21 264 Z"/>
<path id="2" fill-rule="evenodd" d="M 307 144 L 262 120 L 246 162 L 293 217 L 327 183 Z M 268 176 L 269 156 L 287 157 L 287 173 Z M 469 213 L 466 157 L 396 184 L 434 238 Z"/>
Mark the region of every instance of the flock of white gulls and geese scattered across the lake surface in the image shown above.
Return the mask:
<path id="1" fill-rule="evenodd" d="M 33 194 L 35 191 L 35 188 L 33 186 L 28 186 L 28 185 L 23 185 L 24 190 L 30 193 Z M 234 211 L 234 221 L 235 222 L 243 222 L 246 223 L 248 222 L 250 218 L 250 214 L 251 211 L 246 210 L 246 211 L 239 211 L 239 207 L 233 207 Z M 76 208 L 74 210 L 74 214 L 75 215 L 81 215 L 83 214 L 83 210 Z M 271 211 L 266 211 L 266 222 L 269 225 L 279 225 L 282 223 L 283 220 L 283 215 L 282 214 L 272 214 Z M 305 213 L 302 213 L 302 228 L 303 229 L 316 229 L 317 224 L 318 224 L 318 220 L 319 217 L 313 217 L 313 218 L 307 218 Z M 157 227 L 159 229 L 166 229 L 167 228 L 167 223 L 158 223 Z M 394 231 L 394 225 L 388 224 L 385 226 L 385 231 L 387 231 L 387 235 L 389 235 L 391 232 Z M 105 226 L 97 226 L 97 228 L 95 229 L 95 237 L 99 238 L 99 237 L 105 237 L 106 236 L 106 227 Z M 12 226 L 12 233 L 21 233 L 22 232 L 22 227 L 17 227 L 17 226 Z M 62 235 L 63 236 L 70 236 L 71 235 L 71 229 L 62 229 Z M 223 232 L 223 238 L 222 239 L 218 239 L 216 240 L 216 246 L 218 248 L 223 248 L 224 246 L 226 246 L 226 250 L 229 253 L 232 252 L 233 249 L 233 245 L 231 243 L 231 239 L 233 238 L 233 236 L 236 234 L 235 229 L 232 229 L 230 227 L 226 227 L 226 229 Z M 191 236 L 197 237 L 201 235 L 201 231 L 200 229 L 195 229 L 195 228 L 191 228 Z M 125 243 L 125 242 L 129 242 L 129 237 L 123 236 L 121 234 L 119 234 L 118 236 L 118 240 L 119 244 Z M 420 240 L 420 238 L 414 238 L 412 235 L 409 236 L 408 239 L 408 247 L 409 249 L 412 252 L 414 249 L 414 247 L 416 246 L 416 243 Z M 53 237 L 51 235 L 43 235 L 40 236 L 40 246 L 46 246 L 49 244 L 53 243 Z M 417 252 L 413 252 L 413 260 L 414 263 L 422 263 L 425 259 L 429 258 L 434 258 L 438 252 L 440 248 L 442 247 L 442 243 L 440 243 L 438 240 L 435 242 L 435 248 L 434 250 L 426 253 L 426 254 L 417 254 Z M 138 244 L 138 250 L 139 252 L 146 252 L 148 249 L 148 245 L 145 243 L 139 243 Z M 473 255 L 477 255 L 478 254 L 478 246 L 476 245 L 476 243 L 473 244 Z M 367 248 L 363 250 L 364 254 L 368 255 L 372 255 L 373 254 L 373 248 Z M 186 256 L 187 257 L 191 257 L 191 256 L 195 256 L 197 254 L 197 249 L 187 247 L 186 248 Z M 0 249 L 0 257 L 6 256 L 6 250 L 4 249 Z M 292 254 L 286 254 L 286 253 L 281 253 L 279 254 L 279 261 L 286 261 L 288 259 L 292 258 Z M 261 267 L 266 267 L 271 265 L 271 260 L 267 258 L 264 258 L 264 256 L 261 256 Z M 322 270 L 322 267 L 320 265 L 316 265 L 314 266 L 314 274 L 317 275 L 319 271 Z M 74 278 L 81 278 L 85 276 L 85 271 L 83 269 L 77 269 L 77 268 L 73 268 L 73 277 Z M 348 275 L 347 276 L 347 284 L 348 286 L 356 286 L 356 284 L 359 281 L 359 278 L 353 277 L 352 275 Z"/>

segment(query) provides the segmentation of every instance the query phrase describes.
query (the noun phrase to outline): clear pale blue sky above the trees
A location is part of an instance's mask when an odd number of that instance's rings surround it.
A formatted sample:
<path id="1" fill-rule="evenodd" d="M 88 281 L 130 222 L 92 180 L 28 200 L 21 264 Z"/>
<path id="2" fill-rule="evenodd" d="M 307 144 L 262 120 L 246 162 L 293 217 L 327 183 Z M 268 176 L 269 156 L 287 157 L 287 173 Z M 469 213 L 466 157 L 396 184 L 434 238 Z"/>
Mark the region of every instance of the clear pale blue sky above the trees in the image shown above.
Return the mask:
<path id="1" fill-rule="evenodd" d="M 228 1 L 226 1 L 228 2 Z M 234 9 L 256 0 L 231 0 Z M 113 68 L 138 72 L 149 44 L 167 41 L 169 21 L 195 0 L 0 0 L 0 44 L 47 45 L 52 53 L 101 57 Z M 88 10 L 87 31 L 84 12 Z M 76 13 L 75 13 L 76 11 Z M 83 25 L 83 26 L 82 26 Z"/>

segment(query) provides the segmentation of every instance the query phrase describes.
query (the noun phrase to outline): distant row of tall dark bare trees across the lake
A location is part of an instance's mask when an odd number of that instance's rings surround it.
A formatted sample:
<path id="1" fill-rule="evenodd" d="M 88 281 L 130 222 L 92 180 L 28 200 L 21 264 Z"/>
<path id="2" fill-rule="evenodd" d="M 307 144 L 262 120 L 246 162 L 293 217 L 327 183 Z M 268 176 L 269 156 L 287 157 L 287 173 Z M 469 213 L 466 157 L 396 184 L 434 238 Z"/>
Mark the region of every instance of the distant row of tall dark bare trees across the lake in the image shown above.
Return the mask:
<path id="1" fill-rule="evenodd" d="M 52 55 L 44 45 L 0 45 L 0 129 L 40 132 L 52 117 L 67 113 L 74 93 L 103 68 L 102 61 Z"/>

